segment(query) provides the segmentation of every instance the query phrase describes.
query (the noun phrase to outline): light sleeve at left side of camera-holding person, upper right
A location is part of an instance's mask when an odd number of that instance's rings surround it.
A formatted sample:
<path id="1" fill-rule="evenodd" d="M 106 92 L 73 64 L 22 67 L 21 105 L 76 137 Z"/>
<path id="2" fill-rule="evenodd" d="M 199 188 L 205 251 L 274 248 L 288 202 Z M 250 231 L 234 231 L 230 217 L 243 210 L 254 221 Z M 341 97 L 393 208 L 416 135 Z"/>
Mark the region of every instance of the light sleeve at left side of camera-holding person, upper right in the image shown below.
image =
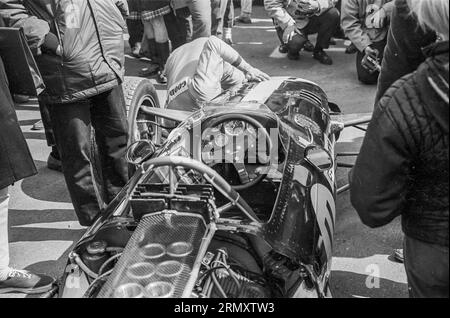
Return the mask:
<path id="1" fill-rule="evenodd" d="M 372 44 L 361 25 L 358 0 L 343 0 L 341 22 L 345 35 L 359 51 L 364 51 L 366 47 Z"/>

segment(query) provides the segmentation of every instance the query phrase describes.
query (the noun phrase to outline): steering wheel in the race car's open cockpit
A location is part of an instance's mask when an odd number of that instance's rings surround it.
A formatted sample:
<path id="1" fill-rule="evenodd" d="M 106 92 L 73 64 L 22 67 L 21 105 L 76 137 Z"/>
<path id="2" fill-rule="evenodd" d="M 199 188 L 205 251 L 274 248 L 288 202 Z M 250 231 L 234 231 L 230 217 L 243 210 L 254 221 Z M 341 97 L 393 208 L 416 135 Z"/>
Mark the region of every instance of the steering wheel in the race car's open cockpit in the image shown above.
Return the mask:
<path id="1" fill-rule="evenodd" d="M 257 129 L 257 134 L 258 134 L 258 132 L 262 132 L 262 134 L 264 135 L 264 138 L 266 140 L 267 149 L 269 150 L 269 154 L 272 153 L 272 147 L 273 147 L 272 140 L 270 139 L 270 135 L 267 132 L 266 128 L 264 128 L 264 126 L 256 119 L 254 119 L 250 116 L 247 116 L 247 115 L 243 115 L 243 114 L 226 114 L 226 115 L 222 115 L 222 116 L 219 116 L 219 117 L 213 119 L 210 123 L 208 123 L 208 125 L 202 125 L 202 136 L 203 136 L 203 132 L 206 129 L 217 127 L 220 124 L 223 124 L 224 122 L 228 122 L 231 120 L 239 120 L 242 122 L 249 123 Z M 200 143 L 203 141 L 202 138 L 199 138 L 199 140 L 200 140 Z M 245 149 L 246 152 L 247 152 L 247 150 L 248 149 Z M 198 153 L 197 153 L 198 158 L 202 158 L 202 147 L 201 146 L 198 147 L 197 151 L 198 151 Z M 253 180 L 251 180 L 249 173 L 247 171 L 247 168 L 245 167 L 245 164 L 244 164 L 244 158 L 240 159 L 242 161 L 234 160 L 234 158 L 236 157 L 237 151 L 235 151 L 235 150 L 233 150 L 233 151 L 234 152 L 232 154 L 229 154 L 233 158 L 233 162 L 231 162 L 231 163 L 233 164 L 234 168 L 238 172 L 239 179 L 241 181 L 240 185 L 231 185 L 231 187 L 234 190 L 242 191 L 242 190 L 251 188 L 251 187 L 257 185 L 259 182 L 261 182 L 262 180 L 264 180 L 267 177 L 267 173 L 261 173 L 259 176 L 257 176 Z"/>

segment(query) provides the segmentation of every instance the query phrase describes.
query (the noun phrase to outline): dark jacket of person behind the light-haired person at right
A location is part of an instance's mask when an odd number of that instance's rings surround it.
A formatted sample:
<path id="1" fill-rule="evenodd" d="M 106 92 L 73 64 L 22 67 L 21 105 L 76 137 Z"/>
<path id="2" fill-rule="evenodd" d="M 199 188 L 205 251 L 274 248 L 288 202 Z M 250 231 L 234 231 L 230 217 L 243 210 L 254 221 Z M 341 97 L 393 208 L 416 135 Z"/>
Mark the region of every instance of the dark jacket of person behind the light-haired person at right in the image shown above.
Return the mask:
<path id="1" fill-rule="evenodd" d="M 395 0 L 375 104 L 396 80 L 414 72 L 425 61 L 422 48 L 435 41 L 435 32 L 419 27 L 407 0 Z"/>

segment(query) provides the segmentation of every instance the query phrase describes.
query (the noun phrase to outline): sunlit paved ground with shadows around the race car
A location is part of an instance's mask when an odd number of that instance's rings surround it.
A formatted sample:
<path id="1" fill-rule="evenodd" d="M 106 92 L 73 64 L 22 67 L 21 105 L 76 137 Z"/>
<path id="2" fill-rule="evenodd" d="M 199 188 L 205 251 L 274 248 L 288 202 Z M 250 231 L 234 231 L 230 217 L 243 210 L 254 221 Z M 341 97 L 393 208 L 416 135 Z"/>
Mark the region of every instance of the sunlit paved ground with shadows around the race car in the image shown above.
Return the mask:
<path id="1" fill-rule="evenodd" d="M 312 80 L 326 91 L 330 101 L 345 113 L 372 110 L 375 87 L 363 86 L 356 80 L 354 56 L 344 54 L 338 42 L 328 50 L 333 66 L 323 66 L 303 54 L 300 61 L 289 61 L 277 51 L 278 40 L 261 7 L 255 8 L 254 24 L 235 27 L 235 48 L 251 64 L 272 76 L 295 76 Z M 145 62 L 127 57 L 127 74 L 136 75 Z M 161 101 L 165 87 L 156 85 Z M 12 266 L 61 275 L 71 246 L 84 229 L 76 222 L 63 177 L 46 168 L 50 152 L 42 132 L 30 130 L 39 118 L 36 102 L 17 106 L 25 137 L 39 169 L 39 174 L 18 182 L 11 189 L 10 248 Z M 356 150 L 362 135 L 350 129 L 342 135 L 339 150 Z M 342 184 L 346 169 L 339 171 Z M 333 262 L 334 297 L 406 297 L 407 286 L 403 265 L 391 260 L 393 248 L 402 244 L 399 222 L 371 230 L 361 224 L 349 203 L 348 194 L 337 202 Z M 374 277 L 372 277 L 372 276 Z M 376 277 L 379 277 L 377 280 Z M 369 287 L 368 287 L 369 286 Z M 24 297 L 18 294 L 3 297 Z"/>

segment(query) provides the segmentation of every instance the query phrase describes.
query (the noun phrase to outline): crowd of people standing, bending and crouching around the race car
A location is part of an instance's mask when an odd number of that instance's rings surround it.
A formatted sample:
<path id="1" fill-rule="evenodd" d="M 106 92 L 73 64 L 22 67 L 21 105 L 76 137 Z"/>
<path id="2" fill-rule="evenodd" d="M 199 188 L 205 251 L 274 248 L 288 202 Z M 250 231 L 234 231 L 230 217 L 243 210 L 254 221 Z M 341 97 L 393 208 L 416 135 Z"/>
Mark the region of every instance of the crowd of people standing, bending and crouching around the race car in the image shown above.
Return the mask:
<path id="1" fill-rule="evenodd" d="M 232 47 L 233 25 L 252 23 L 251 0 L 240 1 L 237 17 L 233 0 L 50 3 L 0 0 L 0 26 L 22 28 L 39 66 L 46 85 L 39 105 L 53 147 L 48 164 L 63 172 L 81 225 L 93 224 L 128 180 L 125 28 L 131 54 L 150 61 L 141 76 L 167 84 L 168 108 L 195 110 L 244 81 L 269 79 Z M 412 297 L 448 297 L 448 7 L 447 0 L 264 1 L 287 58 L 307 51 L 331 65 L 326 49 L 345 38 L 352 43 L 346 53 L 356 53 L 358 80 L 378 84 L 350 174 L 351 201 L 371 227 L 402 216 Z M 174 87 L 183 90 L 170 94 Z M 39 293 L 51 287 L 51 277 L 9 267 L 8 187 L 37 171 L 1 56 L 0 114 L 0 293 Z"/>

